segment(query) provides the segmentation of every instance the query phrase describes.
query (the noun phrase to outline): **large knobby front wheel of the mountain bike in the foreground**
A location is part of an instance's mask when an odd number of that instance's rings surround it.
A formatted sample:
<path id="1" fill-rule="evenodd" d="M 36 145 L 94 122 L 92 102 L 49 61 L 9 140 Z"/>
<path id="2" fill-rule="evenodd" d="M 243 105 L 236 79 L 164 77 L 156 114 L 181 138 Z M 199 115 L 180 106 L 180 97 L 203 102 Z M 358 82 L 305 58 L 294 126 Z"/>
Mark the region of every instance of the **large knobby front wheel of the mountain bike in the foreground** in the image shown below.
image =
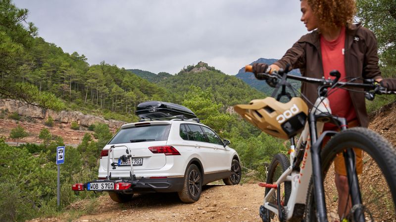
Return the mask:
<path id="1" fill-rule="evenodd" d="M 321 151 L 327 218 L 338 220 L 338 193 L 334 183 L 333 162 L 337 154 L 347 148 L 363 150 L 363 173 L 358 176 L 362 198 L 359 207 L 366 221 L 393 221 L 396 218 L 396 149 L 382 136 L 362 127 L 343 131 L 332 138 Z M 317 221 L 314 187 L 308 189 L 305 221 Z M 350 193 L 350 192 L 349 192 Z M 350 200 L 350 194 L 348 196 Z M 342 212 L 355 221 L 353 212 Z M 340 219 L 341 221 L 342 219 Z"/>

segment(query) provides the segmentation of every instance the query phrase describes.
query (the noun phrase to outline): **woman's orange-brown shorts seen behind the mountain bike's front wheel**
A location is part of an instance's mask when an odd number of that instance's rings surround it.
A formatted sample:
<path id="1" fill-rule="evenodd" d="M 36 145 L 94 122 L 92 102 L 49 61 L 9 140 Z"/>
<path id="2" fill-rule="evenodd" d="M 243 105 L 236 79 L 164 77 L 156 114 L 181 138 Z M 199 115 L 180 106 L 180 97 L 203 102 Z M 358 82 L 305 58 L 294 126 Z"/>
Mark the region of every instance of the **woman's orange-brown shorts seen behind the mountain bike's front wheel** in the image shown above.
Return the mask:
<path id="1" fill-rule="evenodd" d="M 348 128 L 358 126 L 357 121 L 351 121 L 348 124 Z M 339 131 L 339 130 L 338 130 Z M 330 140 L 330 137 L 325 137 L 323 139 L 322 148 L 325 147 L 327 142 Z M 363 171 L 363 152 L 361 149 L 353 148 L 356 154 L 356 173 L 359 175 Z M 334 159 L 334 169 L 337 174 L 347 176 L 347 168 L 345 166 L 344 155 L 342 152 L 338 153 L 336 158 Z"/>

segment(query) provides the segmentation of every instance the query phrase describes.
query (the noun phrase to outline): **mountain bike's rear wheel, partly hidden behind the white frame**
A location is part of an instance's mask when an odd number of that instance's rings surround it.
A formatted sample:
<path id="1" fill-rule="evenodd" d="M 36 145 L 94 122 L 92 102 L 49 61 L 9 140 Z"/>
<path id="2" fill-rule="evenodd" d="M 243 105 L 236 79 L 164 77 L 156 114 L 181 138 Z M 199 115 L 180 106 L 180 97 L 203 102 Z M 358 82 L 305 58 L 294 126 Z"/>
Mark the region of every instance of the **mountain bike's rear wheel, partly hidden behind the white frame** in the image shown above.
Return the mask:
<path id="1" fill-rule="evenodd" d="M 268 174 L 267 174 L 267 184 L 275 183 L 278 178 L 285 172 L 290 166 L 289 158 L 283 154 L 278 153 L 274 156 L 271 161 Z M 278 187 L 280 188 L 280 187 Z M 265 188 L 265 195 L 270 191 L 271 188 Z M 283 183 L 283 190 L 281 190 L 281 199 L 283 199 L 283 204 L 286 205 L 289 201 L 290 194 L 292 192 L 292 183 L 291 182 L 284 182 Z M 276 193 L 276 192 L 275 192 Z M 276 195 L 273 196 L 273 204 L 277 205 Z M 271 218 L 273 218 L 274 214 L 269 210 L 265 210 L 266 219 L 265 222 L 270 222 Z M 263 220 L 264 221 L 264 220 Z"/>

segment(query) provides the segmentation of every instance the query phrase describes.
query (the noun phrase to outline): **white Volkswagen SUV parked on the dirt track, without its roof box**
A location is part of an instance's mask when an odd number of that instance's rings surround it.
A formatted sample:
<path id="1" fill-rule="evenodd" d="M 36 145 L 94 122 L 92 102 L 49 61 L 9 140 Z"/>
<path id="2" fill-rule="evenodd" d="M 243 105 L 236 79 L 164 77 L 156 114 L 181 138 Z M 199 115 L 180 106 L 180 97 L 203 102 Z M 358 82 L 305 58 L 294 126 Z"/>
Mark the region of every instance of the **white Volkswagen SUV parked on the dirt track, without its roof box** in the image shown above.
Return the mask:
<path id="1" fill-rule="evenodd" d="M 239 184 L 240 158 L 229 144 L 197 119 L 125 124 L 101 151 L 102 183 L 88 183 L 87 190 L 109 191 L 116 202 L 129 201 L 134 193 L 178 192 L 192 203 L 202 185 L 221 179 Z M 108 183 L 107 189 L 106 181 L 114 187 Z"/>

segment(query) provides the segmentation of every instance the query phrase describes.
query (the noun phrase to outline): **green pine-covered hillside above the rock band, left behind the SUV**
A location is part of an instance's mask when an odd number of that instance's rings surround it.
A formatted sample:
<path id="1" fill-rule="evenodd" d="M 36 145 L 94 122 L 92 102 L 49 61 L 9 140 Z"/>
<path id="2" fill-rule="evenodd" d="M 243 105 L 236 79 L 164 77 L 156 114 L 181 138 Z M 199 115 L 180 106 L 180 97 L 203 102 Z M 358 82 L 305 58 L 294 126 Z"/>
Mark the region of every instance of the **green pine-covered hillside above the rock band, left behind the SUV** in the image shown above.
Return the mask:
<path id="1" fill-rule="evenodd" d="M 130 115 L 139 102 L 167 99 L 167 90 L 118 68 L 116 65 L 89 65 L 84 55 L 69 55 L 60 47 L 41 37 L 30 39 L 31 45 L 22 53 L 19 73 L 9 83 L 20 82 L 36 86 L 38 93 L 46 92 L 63 104 L 58 110 L 113 111 Z M 8 79 L 8 78 L 7 78 Z M 67 103 L 65 103 L 67 102 Z M 50 105 L 48 105 L 49 108 Z M 124 120 L 132 118 L 124 118 Z"/>

